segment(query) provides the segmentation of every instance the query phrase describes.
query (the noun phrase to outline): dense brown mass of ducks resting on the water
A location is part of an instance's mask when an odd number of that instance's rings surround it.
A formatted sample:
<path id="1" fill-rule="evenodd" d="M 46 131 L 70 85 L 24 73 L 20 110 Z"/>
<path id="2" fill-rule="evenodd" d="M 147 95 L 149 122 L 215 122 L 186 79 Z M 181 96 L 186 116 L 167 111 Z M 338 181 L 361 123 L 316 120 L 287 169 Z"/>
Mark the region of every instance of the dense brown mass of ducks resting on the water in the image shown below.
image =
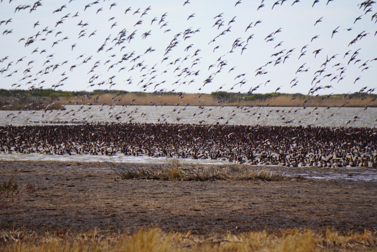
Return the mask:
<path id="1" fill-rule="evenodd" d="M 0 152 L 146 155 L 295 167 L 376 167 L 376 134 L 376 128 L 224 124 L 1 126 Z"/>

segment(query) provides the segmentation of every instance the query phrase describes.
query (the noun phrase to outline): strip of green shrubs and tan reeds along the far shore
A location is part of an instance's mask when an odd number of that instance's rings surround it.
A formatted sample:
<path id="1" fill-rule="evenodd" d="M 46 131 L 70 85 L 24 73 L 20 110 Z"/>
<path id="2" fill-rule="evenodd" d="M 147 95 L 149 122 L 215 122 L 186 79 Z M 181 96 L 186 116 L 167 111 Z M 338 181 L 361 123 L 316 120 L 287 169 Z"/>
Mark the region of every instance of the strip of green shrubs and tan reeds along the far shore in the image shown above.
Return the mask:
<path id="1" fill-rule="evenodd" d="M 376 107 L 377 94 L 367 90 L 347 94 L 305 95 L 272 92 L 267 94 L 211 94 L 183 92 L 128 92 L 123 90 L 61 91 L 51 89 L 0 89 L 1 110 L 61 109 L 64 105 L 144 106 L 271 106 L 271 107 Z"/>

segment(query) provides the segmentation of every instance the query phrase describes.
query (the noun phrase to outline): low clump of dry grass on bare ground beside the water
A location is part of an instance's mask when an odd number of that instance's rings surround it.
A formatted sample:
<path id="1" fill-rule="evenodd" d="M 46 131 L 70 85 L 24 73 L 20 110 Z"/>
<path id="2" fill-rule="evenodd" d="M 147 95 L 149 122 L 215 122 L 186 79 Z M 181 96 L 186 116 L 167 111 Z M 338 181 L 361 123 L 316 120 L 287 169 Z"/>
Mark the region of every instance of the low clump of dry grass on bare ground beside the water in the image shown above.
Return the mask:
<path id="1" fill-rule="evenodd" d="M 132 164 L 114 160 L 106 161 L 107 165 L 121 179 L 143 179 L 164 181 L 210 181 L 210 180 L 263 180 L 280 181 L 286 179 L 285 174 L 277 174 L 267 169 L 253 170 L 247 166 L 234 165 L 186 165 L 177 158 L 167 160 L 164 164 L 152 167 L 135 167 Z"/>

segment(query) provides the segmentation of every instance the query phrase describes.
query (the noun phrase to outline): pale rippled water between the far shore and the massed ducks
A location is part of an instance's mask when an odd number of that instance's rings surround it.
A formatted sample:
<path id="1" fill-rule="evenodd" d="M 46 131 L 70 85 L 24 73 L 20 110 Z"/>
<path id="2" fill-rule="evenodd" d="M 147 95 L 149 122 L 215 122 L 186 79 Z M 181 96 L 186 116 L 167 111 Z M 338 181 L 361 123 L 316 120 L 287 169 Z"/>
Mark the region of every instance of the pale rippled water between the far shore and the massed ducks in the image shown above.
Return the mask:
<path id="1" fill-rule="evenodd" d="M 89 106 L 67 105 L 64 111 L 0 111 L 0 125 L 50 124 L 52 121 L 139 123 L 228 123 L 242 125 L 312 125 L 376 127 L 377 108 Z"/>

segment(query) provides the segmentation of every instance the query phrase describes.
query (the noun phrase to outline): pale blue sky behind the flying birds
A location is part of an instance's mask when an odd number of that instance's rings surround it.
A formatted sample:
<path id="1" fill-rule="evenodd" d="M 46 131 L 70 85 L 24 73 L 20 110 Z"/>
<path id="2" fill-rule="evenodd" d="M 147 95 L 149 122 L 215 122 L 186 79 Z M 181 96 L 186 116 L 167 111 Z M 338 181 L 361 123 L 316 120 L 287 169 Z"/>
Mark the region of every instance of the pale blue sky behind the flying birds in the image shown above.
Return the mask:
<path id="1" fill-rule="evenodd" d="M 377 93 L 360 0 L 39 2 L 0 3 L 0 88 Z"/>

